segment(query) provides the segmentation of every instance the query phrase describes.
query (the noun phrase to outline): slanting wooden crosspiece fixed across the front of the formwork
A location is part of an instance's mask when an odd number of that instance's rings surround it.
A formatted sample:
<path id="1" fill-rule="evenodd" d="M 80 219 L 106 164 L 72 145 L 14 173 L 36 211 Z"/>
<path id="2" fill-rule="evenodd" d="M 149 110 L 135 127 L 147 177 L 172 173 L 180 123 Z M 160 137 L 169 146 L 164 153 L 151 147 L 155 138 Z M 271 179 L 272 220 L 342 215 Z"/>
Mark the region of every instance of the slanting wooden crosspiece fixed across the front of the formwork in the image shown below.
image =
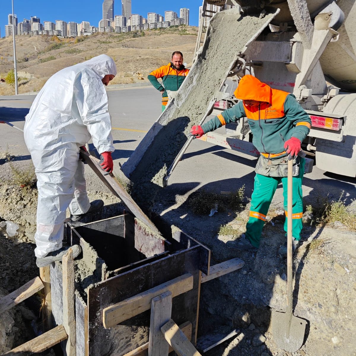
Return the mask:
<path id="1" fill-rule="evenodd" d="M 183 274 L 183 276 L 174 278 L 171 281 L 111 305 L 103 310 L 104 328 L 112 328 L 122 321 L 132 318 L 132 316 L 145 312 L 145 310 L 149 310 L 151 307 L 151 299 L 159 294 L 169 290 L 172 292 L 172 297 L 174 298 L 176 295 L 188 292 L 188 290 L 192 288 L 193 276 L 190 273 L 186 273 Z"/>

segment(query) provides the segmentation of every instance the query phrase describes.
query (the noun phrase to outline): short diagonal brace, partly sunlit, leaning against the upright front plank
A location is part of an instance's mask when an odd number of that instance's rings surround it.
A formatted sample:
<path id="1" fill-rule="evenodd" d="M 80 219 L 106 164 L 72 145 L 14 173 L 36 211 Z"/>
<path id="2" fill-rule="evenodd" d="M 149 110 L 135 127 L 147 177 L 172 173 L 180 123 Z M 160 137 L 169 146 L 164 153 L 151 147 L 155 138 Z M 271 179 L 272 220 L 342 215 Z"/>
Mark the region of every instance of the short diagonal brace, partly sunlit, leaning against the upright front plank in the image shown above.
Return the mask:
<path id="1" fill-rule="evenodd" d="M 201 356 L 172 319 L 162 326 L 161 331 L 178 356 Z"/>

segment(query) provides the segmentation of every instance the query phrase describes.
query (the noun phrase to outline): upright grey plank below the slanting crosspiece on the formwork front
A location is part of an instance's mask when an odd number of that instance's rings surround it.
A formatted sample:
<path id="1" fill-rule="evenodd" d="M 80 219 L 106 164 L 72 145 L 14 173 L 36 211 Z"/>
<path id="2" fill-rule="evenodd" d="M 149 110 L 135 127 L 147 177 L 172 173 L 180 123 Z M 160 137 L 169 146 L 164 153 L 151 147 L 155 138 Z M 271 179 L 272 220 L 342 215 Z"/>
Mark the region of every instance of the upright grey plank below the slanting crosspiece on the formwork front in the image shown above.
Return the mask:
<path id="1" fill-rule="evenodd" d="M 172 293 L 165 292 L 151 300 L 148 356 L 168 356 L 169 345 L 161 333 L 161 326 L 171 320 Z"/>

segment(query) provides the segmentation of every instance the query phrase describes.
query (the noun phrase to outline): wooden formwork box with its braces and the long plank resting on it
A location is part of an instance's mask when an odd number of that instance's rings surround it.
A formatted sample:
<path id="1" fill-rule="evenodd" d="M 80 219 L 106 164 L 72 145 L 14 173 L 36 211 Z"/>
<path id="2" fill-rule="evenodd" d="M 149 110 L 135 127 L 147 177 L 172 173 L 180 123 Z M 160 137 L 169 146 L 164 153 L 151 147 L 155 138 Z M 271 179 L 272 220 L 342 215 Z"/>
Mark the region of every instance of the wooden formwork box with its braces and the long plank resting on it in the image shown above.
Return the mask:
<path id="1" fill-rule="evenodd" d="M 244 262 L 210 266 L 209 248 L 183 231 L 172 227 L 171 236 L 162 236 L 115 177 L 103 175 L 95 157 L 81 157 L 126 212 L 112 204 L 79 223 L 67 220 L 64 242 L 79 244 L 82 255 L 73 261 L 69 249 L 62 262 L 41 268 L 40 277 L 0 299 L 1 314 L 44 289 L 43 325 L 53 328 L 11 351 L 41 352 L 61 342 L 68 356 L 167 356 L 173 350 L 199 356 L 201 283 Z"/>

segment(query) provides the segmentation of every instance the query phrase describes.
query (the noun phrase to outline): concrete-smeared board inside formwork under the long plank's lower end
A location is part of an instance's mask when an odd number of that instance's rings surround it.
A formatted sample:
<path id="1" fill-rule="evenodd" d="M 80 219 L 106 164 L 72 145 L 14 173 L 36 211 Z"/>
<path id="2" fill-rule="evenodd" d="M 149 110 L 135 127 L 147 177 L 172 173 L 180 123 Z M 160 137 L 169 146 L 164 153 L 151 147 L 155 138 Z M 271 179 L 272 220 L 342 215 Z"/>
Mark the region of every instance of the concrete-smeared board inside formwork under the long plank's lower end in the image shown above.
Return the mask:
<path id="1" fill-rule="evenodd" d="M 152 257 L 166 250 L 165 239 L 135 218 L 135 249 L 146 257 Z"/>

